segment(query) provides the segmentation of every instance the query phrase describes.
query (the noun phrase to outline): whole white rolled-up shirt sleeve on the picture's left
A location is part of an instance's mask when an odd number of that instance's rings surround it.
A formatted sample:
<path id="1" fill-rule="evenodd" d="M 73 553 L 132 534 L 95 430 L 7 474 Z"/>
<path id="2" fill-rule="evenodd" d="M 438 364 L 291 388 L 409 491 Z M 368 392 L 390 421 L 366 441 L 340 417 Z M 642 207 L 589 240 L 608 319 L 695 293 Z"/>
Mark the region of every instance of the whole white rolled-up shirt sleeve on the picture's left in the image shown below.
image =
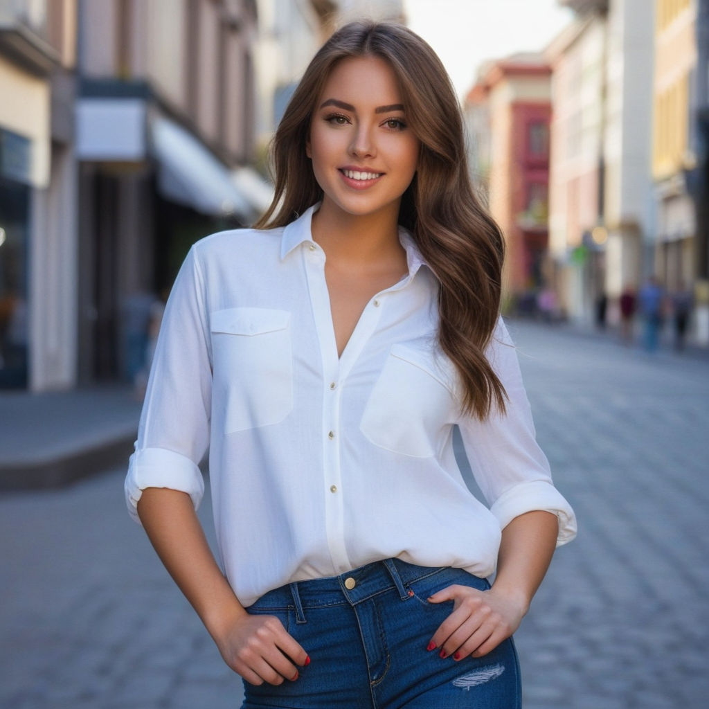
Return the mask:
<path id="1" fill-rule="evenodd" d="M 167 301 L 125 478 L 125 501 L 138 523 L 138 501 L 147 488 L 185 492 L 195 508 L 203 496 L 199 463 L 209 445 L 211 411 L 206 321 L 206 293 L 193 247 Z"/>

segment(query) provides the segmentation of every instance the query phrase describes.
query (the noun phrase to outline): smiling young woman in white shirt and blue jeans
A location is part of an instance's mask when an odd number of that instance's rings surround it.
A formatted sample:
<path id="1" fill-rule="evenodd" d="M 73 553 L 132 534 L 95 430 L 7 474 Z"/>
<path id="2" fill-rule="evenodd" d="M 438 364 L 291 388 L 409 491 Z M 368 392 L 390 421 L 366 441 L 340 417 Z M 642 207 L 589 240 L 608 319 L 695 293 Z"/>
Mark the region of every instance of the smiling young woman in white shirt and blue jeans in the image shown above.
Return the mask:
<path id="1" fill-rule="evenodd" d="M 498 314 L 503 239 L 440 61 L 406 28 L 345 26 L 274 162 L 257 228 L 198 242 L 174 285 L 130 510 L 245 708 L 517 707 L 510 636 L 575 521 L 535 442 Z M 194 513 L 207 449 L 220 565 Z"/>

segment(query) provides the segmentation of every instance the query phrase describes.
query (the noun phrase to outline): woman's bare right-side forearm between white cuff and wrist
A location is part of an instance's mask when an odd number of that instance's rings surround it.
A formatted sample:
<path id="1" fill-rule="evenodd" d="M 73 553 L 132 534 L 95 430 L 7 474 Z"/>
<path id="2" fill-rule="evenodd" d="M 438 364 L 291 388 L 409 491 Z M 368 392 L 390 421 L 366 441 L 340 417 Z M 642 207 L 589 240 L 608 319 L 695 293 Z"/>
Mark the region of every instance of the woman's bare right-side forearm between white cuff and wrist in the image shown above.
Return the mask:
<path id="1" fill-rule="evenodd" d="M 515 599 L 523 613 L 547 573 L 558 534 L 556 515 L 544 511 L 520 515 L 502 532 L 493 589 Z"/>

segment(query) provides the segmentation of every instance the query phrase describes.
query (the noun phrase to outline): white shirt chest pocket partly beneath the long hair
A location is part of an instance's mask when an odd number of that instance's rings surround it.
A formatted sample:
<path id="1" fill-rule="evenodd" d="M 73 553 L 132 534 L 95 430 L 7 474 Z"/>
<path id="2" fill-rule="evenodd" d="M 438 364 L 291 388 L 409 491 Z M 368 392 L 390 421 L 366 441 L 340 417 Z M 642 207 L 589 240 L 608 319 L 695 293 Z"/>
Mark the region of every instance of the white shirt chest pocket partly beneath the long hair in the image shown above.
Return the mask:
<path id="1" fill-rule="evenodd" d="M 359 430 L 381 448 L 417 458 L 437 453 L 457 400 L 451 370 L 428 350 L 394 345 L 372 389 Z"/>

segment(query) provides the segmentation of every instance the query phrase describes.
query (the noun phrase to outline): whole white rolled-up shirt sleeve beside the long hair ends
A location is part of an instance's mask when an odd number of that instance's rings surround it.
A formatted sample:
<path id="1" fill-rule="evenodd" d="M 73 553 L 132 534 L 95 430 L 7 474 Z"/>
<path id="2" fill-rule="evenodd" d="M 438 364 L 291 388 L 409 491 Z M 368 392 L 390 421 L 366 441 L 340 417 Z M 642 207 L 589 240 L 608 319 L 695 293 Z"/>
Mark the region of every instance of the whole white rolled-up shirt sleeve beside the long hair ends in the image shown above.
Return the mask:
<path id="1" fill-rule="evenodd" d="M 503 414 L 493 411 L 484 421 L 465 418 L 459 422 L 475 479 L 502 529 L 519 515 L 545 510 L 557 515 L 557 545 L 563 545 L 576 536 L 576 516 L 554 487 L 549 462 L 537 444 L 517 352 L 502 319 L 488 359 L 508 401 Z"/>

